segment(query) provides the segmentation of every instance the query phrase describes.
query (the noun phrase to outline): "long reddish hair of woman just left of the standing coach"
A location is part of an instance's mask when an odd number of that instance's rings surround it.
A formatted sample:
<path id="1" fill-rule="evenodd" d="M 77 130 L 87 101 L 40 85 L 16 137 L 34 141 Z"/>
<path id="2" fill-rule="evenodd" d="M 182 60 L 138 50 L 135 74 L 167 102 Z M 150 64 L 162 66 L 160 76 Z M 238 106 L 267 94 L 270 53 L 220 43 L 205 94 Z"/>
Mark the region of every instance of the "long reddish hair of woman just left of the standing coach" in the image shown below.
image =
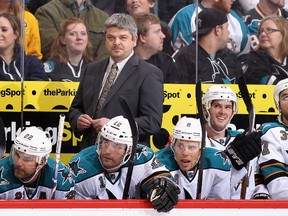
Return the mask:
<path id="1" fill-rule="evenodd" d="M 85 22 L 78 17 L 70 17 L 62 22 L 60 29 L 58 31 L 58 36 L 54 40 L 53 45 L 51 47 L 50 58 L 57 56 L 59 57 L 60 62 L 62 63 L 68 62 L 69 57 L 68 57 L 68 53 L 66 50 L 66 46 L 61 42 L 61 38 L 65 36 L 69 25 L 71 24 L 76 25 L 79 23 L 82 23 L 86 27 Z M 87 36 L 88 36 L 87 27 L 86 27 L 86 31 L 87 31 Z M 88 43 L 87 43 L 86 49 L 83 52 L 83 59 L 87 62 L 93 61 L 93 55 L 92 55 L 91 49 L 92 49 L 92 45 L 88 36 Z"/>

